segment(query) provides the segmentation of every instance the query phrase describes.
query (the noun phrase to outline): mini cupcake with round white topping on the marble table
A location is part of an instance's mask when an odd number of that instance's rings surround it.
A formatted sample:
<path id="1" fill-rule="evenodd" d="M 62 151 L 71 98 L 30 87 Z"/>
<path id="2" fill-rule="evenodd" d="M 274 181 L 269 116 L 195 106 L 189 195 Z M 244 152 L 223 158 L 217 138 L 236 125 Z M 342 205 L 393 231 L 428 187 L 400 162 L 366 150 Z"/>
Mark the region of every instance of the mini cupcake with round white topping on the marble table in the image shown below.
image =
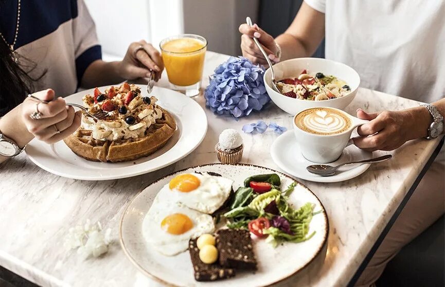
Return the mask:
<path id="1" fill-rule="evenodd" d="M 243 139 L 234 129 L 222 131 L 215 146 L 218 159 L 223 164 L 237 164 L 243 156 Z"/>

